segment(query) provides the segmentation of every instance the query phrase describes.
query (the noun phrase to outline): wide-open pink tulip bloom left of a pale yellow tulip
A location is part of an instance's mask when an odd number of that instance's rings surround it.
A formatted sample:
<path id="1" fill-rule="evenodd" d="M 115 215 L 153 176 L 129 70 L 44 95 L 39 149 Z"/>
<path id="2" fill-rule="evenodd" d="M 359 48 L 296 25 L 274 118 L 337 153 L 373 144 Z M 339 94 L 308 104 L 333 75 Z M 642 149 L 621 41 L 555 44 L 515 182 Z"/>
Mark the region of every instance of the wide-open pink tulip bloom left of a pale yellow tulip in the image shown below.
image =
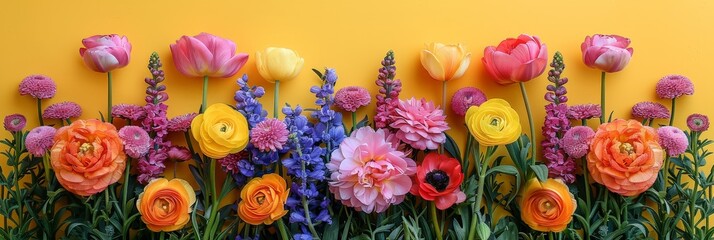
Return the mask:
<path id="1" fill-rule="evenodd" d="M 179 72 L 190 77 L 230 77 L 248 61 L 248 54 L 236 54 L 235 43 L 208 33 L 181 37 L 171 54 Z"/>

